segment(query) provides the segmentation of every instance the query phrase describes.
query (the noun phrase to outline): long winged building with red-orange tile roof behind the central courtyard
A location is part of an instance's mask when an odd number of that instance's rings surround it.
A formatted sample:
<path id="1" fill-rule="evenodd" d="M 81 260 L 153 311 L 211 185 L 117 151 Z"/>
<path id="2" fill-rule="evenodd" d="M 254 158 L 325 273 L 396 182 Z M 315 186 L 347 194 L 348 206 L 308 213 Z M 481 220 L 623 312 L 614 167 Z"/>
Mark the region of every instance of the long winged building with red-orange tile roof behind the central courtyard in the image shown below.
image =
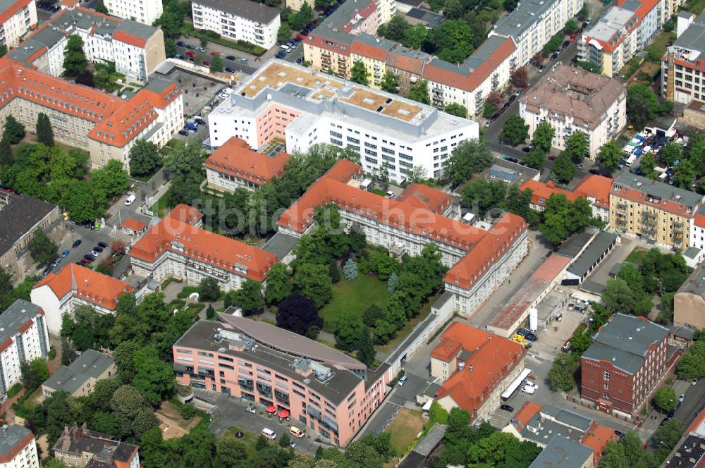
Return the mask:
<path id="1" fill-rule="evenodd" d="M 279 230 L 300 237 L 313 226 L 316 209 L 332 203 L 368 242 L 396 254 L 418 255 L 434 242 L 450 267 L 446 290 L 462 314 L 472 312 L 527 254 L 528 226 L 520 216 L 505 213 L 483 230 L 446 217 L 452 209 L 443 192 L 412 184 L 389 199 L 360 189 L 361 177 L 360 166 L 338 161 L 281 215 Z"/>

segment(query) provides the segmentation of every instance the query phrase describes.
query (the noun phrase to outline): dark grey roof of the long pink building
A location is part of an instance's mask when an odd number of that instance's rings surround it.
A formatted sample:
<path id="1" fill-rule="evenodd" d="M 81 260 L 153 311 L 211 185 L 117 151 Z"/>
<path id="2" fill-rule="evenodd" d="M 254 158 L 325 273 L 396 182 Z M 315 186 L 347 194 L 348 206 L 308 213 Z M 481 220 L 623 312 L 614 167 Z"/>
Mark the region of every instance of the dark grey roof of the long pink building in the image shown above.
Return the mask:
<path id="1" fill-rule="evenodd" d="M 336 355 L 343 355 L 343 353 L 338 352 L 336 350 L 331 350 L 331 348 L 326 347 L 324 345 L 321 345 L 319 343 L 316 343 L 313 340 L 309 340 L 308 338 L 305 338 L 304 336 L 301 335 L 296 335 L 295 333 L 291 333 L 290 331 L 283 330 L 282 328 L 276 328 L 276 326 L 271 326 L 267 325 L 261 322 L 255 322 L 250 319 L 244 319 L 242 317 L 232 317 L 234 319 L 240 319 L 240 320 L 235 320 L 235 323 L 240 323 L 242 324 L 243 321 L 250 321 L 254 322 L 256 325 L 254 328 L 260 329 L 262 327 L 268 327 L 271 328 L 271 336 L 267 336 L 268 333 L 261 333 L 259 336 L 256 338 L 253 338 L 255 342 L 259 345 L 257 347 L 257 351 L 255 352 L 255 348 L 247 348 L 245 347 L 244 350 L 238 351 L 238 350 L 231 350 L 228 347 L 228 343 L 225 341 L 216 341 L 215 339 L 215 334 L 217 331 L 219 331 L 219 328 L 228 330 L 228 328 L 231 331 L 239 331 L 238 328 L 234 327 L 228 327 L 228 322 L 231 321 L 232 316 L 226 316 L 226 314 L 219 314 L 219 319 L 221 320 L 226 320 L 226 323 L 219 323 L 219 322 L 214 322 L 214 321 L 208 321 L 208 320 L 200 320 L 197 321 L 189 330 L 183 334 L 181 338 L 178 339 L 178 341 L 174 344 L 174 346 L 185 346 L 185 347 L 192 347 L 192 348 L 197 348 L 200 350 L 204 351 L 209 351 L 209 352 L 217 352 L 221 355 L 229 355 L 229 356 L 235 356 L 235 357 L 240 357 L 242 359 L 247 359 L 249 362 L 255 362 L 257 364 L 262 364 L 270 369 L 274 369 L 278 374 L 288 376 L 289 378 L 292 378 L 295 381 L 298 381 L 300 383 L 303 383 L 305 377 L 302 376 L 301 374 L 298 374 L 297 371 L 294 369 L 294 365 L 296 362 L 299 361 L 299 357 L 307 355 L 307 351 L 309 351 L 309 347 L 316 347 L 317 350 L 319 347 L 325 347 L 330 353 L 334 353 Z M 243 326 L 243 328 L 245 328 Z M 249 327 L 248 327 L 249 328 Z M 251 330 L 250 330 L 251 331 Z M 274 335 L 279 335 L 279 332 L 286 332 L 286 333 L 291 333 L 292 335 L 295 335 L 298 337 L 298 339 L 295 342 L 288 342 L 288 340 L 281 340 L 281 343 L 279 340 L 274 338 Z M 250 335 L 251 336 L 251 335 Z M 260 338 L 264 338 L 264 340 L 260 340 Z M 275 349 L 273 347 L 270 347 L 267 343 L 271 341 L 271 339 L 274 338 L 275 344 L 279 349 Z M 288 342 L 288 343 L 286 343 Z M 288 347 L 293 345 L 293 353 L 288 353 L 288 352 L 282 352 L 281 348 L 282 347 Z M 314 353 L 315 357 L 319 359 L 321 355 L 318 353 Z M 343 355 L 345 359 L 350 359 L 353 361 L 354 359 L 351 357 L 348 357 L 346 355 Z M 309 356 L 309 357 L 314 357 L 314 356 Z M 343 358 L 341 357 L 341 360 Z M 357 361 L 355 361 L 357 362 Z M 362 365 L 364 367 L 364 364 L 361 364 L 360 362 L 357 362 L 357 364 Z M 203 364 L 196 364 L 197 367 L 204 368 Z M 353 391 L 353 389 L 360 384 L 360 381 L 362 377 L 358 374 L 354 374 L 352 371 L 348 371 L 347 369 L 341 368 L 336 368 L 333 366 L 329 366 L 326 362 L 324 362 L 324 365 L 326 367 L 329 367 L 332 371 L 332 376 L 325 382 L 320 382 L 317 378 L 307 378 L 307 383 L 305 383 L 305 386 L 308 386 L 312 391 L 315 393 L 319 393 L 322 395 L 324 398 L 330 400 L 331 402 L 334 403 L 340 403 L 344 401 L 345 398 L 350 395 L 350 392 Z M 205 366 L 208 367 L 208 366 Z M 175 363 L 174 364 L 174 369 L 177 371 L 183 371 L 183 365 Z M 385 367 L 386 369 L 386 367 Z M 198 369 L 194 369 L 194 371 L 198 371 Z M 369 372 L 368 372 L 369 376 Z M 368 377 L 368 381 L 371 380 L 371 378 Z"/>

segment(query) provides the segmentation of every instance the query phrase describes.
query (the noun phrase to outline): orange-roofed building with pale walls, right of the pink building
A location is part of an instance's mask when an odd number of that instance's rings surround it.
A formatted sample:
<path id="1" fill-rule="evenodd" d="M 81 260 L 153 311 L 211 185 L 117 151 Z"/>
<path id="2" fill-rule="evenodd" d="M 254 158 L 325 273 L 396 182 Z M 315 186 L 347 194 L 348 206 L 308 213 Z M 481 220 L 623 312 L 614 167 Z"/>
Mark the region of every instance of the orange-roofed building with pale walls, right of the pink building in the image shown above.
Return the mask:
<path id="1" fill-rule="evenodd" d="M 431 376 L 445 379 L 436 401 L 446 410 L 470 412 L 471 420 L 489 417 L 524 370 L 525 355 L 519 343 L 453 322 L 431 351 Z"/>

